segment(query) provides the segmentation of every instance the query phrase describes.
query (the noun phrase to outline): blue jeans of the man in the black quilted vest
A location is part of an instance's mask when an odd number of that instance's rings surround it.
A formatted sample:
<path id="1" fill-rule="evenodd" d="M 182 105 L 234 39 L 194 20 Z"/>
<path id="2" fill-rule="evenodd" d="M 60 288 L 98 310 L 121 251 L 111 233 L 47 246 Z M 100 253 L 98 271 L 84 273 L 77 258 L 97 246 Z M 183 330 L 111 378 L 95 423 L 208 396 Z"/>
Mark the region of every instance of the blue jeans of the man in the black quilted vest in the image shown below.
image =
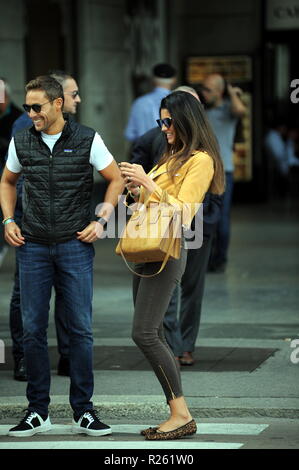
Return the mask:
<path id="1" fill-rule="evenodd" d="M 50 364 L 47 327 L 52 286 L 64 300 L 70 340 L 70 404 L 75 418 L 93 408 L 92 290 L 94 247 L 79 240 L 18 248 L 24 357 L 29 410 L 48 414 Z"/>

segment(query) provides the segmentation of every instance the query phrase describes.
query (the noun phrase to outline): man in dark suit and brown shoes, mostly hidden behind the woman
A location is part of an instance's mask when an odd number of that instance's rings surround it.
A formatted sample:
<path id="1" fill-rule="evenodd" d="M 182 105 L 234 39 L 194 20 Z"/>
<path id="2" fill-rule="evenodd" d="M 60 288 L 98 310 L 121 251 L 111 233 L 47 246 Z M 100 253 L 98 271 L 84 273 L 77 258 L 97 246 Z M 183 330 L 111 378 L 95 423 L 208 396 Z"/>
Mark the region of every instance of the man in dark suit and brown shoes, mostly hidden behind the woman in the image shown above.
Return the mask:
<path id="1" fill-rule="evenodd" d="M 199 99 L 196 91 L 180 86 L 174 91 L 185 91 Z M 146 172 L 159 161 L 165 150 L 165 136 L 158 127 L 141 136 L 133 146 L 131 163 L 142 165 Z M 186 269 L 169 303 L 164 317 L 164 333 L 179 363 L 194 364 L 193 352 L 198 335 L 205 273 L 211 252 L 212 238 L 219 220 L 221 196 L 207 193 L 203 201 L 203 243 L 200 248 L 189 249 Z M 197 221 L 199 222 L 199 221 Z M 195 221 L 192 230 L 197 228 Z M 178 307 L 180 305 L 180 310 Z"/>

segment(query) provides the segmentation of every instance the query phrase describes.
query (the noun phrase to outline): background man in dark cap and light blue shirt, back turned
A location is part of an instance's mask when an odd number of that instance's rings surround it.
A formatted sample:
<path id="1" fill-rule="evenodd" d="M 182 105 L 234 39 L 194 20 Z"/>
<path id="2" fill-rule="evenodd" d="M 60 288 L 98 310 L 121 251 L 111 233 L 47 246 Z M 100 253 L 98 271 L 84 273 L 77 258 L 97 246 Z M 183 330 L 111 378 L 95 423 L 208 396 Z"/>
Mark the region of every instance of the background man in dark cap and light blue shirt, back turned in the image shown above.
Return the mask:
<path id="1" fill-rule="evenodd" d="M 169 64 L 155 65 L 152 74 L 154 89 L 132 104 L 125 130 L 125 137 L 130 142 L 156 126 L 161 100 L 170 93 L 176 82 L 176 70 Z"/>

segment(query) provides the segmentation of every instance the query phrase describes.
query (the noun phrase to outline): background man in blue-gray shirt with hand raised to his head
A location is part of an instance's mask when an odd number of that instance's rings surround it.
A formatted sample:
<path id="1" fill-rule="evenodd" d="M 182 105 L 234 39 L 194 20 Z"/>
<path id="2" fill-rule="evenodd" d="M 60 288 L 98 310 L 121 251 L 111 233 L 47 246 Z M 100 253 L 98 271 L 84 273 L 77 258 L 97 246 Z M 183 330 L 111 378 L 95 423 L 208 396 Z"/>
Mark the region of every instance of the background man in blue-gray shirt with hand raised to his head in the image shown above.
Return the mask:
<path id="1" fill-rule="evenodd" d="M 227 90 L 226 90 L 227 88 Z M 228 98 L 225 97 L 227 91 Z M 237 122 L 246 112 L 240 99 L 240 88 L 225 86 L 223 77 L 211 74 L 203 82 L 202 94 L 207 106 L 207 115 L 218 139 L 220 154 L 225 169 L 226 189 L 221 216 L 218 222 L 215 245 L 209 262 L 212 272 L 224 272 L 230 239 L 230 209 L 233 194 L 233 143 Z"/>

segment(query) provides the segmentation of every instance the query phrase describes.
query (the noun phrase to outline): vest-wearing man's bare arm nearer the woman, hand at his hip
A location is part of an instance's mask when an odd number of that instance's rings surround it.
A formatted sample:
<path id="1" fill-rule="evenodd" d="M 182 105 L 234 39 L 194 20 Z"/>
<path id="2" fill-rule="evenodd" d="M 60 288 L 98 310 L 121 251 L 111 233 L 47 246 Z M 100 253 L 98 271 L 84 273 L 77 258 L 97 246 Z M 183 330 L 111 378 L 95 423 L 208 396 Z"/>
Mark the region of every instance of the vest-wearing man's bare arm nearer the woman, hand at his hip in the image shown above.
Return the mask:
<path id="1" fill-rule="evenodd" d="M 108 221 L 114 207 L 118 204 L 118 197 L 124 191 L 124 180 L 115 160 L 113 160 L 106 168 L 100 170 L 99 173 L 108 182 L 108 187 L 105 193 L 104 202 L 101 204 L 101 209 L 97 213 L 97 217 L 103 217 Z M 77 232 L 77 239 L 85 243 L 93 243 L 101 237 L 102 232 L 103 226 L 94 221 L 91 222 L 82 232 Z"/>

